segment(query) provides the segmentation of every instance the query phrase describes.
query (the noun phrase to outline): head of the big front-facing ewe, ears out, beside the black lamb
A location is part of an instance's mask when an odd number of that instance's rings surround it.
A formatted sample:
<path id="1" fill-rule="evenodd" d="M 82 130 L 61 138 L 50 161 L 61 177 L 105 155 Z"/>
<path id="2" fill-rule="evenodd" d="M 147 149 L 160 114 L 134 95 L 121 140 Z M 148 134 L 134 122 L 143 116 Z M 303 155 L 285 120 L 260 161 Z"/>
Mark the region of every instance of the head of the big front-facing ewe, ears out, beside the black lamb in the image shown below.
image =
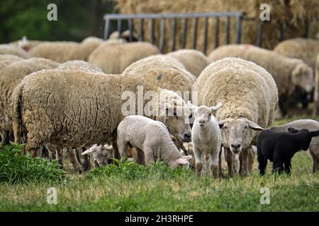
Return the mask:
<path id="1" fill-rule="evenodd" d="M 247 148 L 252 143 L 253 131 L 262 131 L 262 127 L 245 119 L 224 119 L 219 121 L 222 134 L 222 143 L 230 148 L 234 154 L 239 154 L 242 148 Z"/>

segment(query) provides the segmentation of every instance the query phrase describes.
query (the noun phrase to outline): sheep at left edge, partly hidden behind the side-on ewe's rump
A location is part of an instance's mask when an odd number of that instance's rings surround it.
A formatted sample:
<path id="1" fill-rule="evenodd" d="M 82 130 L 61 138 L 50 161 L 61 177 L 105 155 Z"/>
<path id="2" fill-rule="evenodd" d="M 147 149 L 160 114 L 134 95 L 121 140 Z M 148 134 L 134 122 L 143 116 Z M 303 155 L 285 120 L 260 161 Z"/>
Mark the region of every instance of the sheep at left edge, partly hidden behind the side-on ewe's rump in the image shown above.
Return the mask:
<path id="1" fill-rule="evenodd" d="M 30 58 L 16 61 L 1 70 L 0 76 L 0 131 L 2 145 L 9 144 L 9 133 L 12 128 L 12 93 L 24 77 L 35 71 L 54 69 L 58 64 L 41 58 Z"/>

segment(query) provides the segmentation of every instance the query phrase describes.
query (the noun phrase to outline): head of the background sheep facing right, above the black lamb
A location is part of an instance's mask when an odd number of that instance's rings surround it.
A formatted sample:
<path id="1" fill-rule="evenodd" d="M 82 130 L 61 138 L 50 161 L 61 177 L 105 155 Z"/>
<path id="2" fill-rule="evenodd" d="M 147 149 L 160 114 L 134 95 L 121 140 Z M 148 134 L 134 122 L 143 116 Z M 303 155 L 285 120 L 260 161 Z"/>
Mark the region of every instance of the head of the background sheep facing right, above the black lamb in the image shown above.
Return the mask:
<path id="1" fill-rule="evenodd" d="M 293 84 L 310 93 L 313 90 L 313 69 L 303 62 L 296 65 L 292 72 Z"/>

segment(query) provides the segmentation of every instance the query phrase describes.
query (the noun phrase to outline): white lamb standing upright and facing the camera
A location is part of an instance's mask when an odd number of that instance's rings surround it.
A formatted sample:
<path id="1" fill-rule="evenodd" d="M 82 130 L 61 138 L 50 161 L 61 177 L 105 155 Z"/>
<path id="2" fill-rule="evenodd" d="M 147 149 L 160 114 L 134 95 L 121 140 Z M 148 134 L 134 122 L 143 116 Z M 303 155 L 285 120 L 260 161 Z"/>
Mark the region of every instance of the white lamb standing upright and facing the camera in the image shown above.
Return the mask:
<path id="1" fill-rule="evenodd" d="M 221 146 L 221 133 L 217 119 L 213 116 L 221 102 L 214 107 L 191 105 L 195 121 L 191 129 L 191 141 L 194 144 L 195 168 L 198 176 L 206 173 L 206 157 L 210 162 L 212 176 L 218 178 L 218 155 Z"/>

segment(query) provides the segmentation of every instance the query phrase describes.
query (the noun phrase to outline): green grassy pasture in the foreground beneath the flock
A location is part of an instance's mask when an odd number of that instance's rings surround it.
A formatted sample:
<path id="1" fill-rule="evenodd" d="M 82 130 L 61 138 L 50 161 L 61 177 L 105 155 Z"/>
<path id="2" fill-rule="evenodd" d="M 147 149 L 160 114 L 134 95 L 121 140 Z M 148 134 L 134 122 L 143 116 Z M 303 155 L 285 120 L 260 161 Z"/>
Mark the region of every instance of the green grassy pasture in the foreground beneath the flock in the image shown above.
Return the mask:
<path id="1" fill-rule="evenodd" d="M 12 146 L 21 158 L 20 146 Z M 291 176 L 273 176 L 269 164 L 259 177 L 255 160 L 245 179 L 198 178 L 192 170 L 170 170 L 162 162 L 147 167 L 120 162 L 66 175 L 57 162 L 27 156 L 21 166 L 18 160 L 5 161 L 6 155 L 7 150 L 0 155 L 0 211 L 319 211 L 319 174 L 312 173 L 308 151 L 293 157 Z M 28 170 L 28 178 L 21 179 Z M 57 189 L 56 205 L 47 203 L 50 187 Z M 263 187 L 269 189 L 269 204 L 260 203 Z"/>

